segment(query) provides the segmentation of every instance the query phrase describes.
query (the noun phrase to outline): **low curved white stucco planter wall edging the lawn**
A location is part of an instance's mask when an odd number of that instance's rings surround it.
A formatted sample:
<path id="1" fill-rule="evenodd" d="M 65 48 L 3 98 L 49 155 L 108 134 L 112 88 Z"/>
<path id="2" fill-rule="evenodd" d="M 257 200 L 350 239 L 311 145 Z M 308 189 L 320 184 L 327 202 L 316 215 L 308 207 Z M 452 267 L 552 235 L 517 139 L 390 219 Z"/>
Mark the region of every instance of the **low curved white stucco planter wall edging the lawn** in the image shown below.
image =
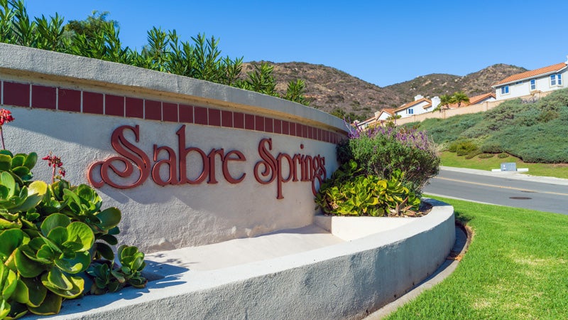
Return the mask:
<path id="1" fill-rule="evenodd" d="M 361 319 L 437 270 L 455 241 L 454 209 L 391 230 L 271 260 L 196 272 L 175 267 L 143 292 L 65 302 L 59 319 Z M 396 219 L 396 218 L 395 218 Z M 152 270 L 148 270 L 152 271 Z"/>

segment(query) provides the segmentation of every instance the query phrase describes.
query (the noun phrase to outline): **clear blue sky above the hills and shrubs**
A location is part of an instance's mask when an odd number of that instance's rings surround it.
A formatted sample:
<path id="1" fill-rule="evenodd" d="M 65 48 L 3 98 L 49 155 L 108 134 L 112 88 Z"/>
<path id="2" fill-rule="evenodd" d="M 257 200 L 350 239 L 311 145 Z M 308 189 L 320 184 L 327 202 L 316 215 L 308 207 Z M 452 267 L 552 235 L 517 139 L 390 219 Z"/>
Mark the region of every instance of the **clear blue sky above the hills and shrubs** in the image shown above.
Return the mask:
<path id="1" fill-rule="evenodd" d="M 565 62 L 568 0 L 119 1 L 27 0 L 30 16 L 65 22 L 109 11 L 138 50 L 152 26 L 220 39 L 244 61 L 328 65 L 381 87 L 430 73 L 466 75 L 496 63 Z"/>

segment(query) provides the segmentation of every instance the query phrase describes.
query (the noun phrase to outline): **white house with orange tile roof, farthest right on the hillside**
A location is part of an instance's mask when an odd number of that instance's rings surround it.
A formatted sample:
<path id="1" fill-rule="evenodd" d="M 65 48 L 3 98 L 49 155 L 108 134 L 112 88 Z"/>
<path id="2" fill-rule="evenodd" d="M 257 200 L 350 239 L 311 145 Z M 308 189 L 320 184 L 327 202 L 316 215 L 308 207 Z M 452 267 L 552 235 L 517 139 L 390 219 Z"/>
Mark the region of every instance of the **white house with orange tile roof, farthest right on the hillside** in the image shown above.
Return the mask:
<path id="1" fill-rule="evenodd" d="M 497 100 L 506 100 L 568 87 L 565 85 L 567 77 L 568 56 L 564 63 L 511 75 L 491 87 L 495 89 Z"/>

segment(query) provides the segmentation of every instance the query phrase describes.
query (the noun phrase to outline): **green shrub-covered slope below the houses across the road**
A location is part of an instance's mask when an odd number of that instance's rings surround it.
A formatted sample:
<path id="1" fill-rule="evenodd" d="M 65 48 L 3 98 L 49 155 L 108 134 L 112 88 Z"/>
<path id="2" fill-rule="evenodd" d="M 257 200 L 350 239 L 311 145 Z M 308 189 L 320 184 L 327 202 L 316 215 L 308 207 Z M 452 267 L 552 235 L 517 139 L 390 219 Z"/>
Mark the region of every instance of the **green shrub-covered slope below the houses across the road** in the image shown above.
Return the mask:
<path id="1" fill-rule="evenodd" d="M 540 100 L 509 100 L 487 112 L 405 126 L 426 130 L 459 155 L 506 152 L 525 162 L 568 163 L 568 89 Z"/>

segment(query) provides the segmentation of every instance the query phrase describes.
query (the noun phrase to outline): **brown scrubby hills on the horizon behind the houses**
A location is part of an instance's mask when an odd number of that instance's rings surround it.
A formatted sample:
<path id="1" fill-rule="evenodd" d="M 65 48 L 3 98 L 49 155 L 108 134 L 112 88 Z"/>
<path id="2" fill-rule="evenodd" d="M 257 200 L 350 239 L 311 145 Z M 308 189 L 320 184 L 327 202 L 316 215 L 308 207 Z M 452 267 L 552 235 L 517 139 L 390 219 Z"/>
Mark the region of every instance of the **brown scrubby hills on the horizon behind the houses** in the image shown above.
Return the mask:
<path id="1" fill-rule="evenodd" d="M 252 63 L 244 63 L 243 72 L 253 70 Z M 285 92 L 290 80 L 302 79 L 306 83 L 306 97 L 310 106 L 325 112 L 341 109 L 353 112 L 359 119 L 370 117 L 383 108 L 400 107 L 414 100 L 415 95 L 433 97 L 463 90 L 474 96 L 491 92 L 491 85 L 498 80 L 526 71 L 514 65 L 491 65 L 488 68 L 458 75 L 422 75 L 413 80 L 387 87 L 378 87 L 369 82 L 325 65 L 310 63 L 270 63 L 274 66 L 278 92 Z"/>

